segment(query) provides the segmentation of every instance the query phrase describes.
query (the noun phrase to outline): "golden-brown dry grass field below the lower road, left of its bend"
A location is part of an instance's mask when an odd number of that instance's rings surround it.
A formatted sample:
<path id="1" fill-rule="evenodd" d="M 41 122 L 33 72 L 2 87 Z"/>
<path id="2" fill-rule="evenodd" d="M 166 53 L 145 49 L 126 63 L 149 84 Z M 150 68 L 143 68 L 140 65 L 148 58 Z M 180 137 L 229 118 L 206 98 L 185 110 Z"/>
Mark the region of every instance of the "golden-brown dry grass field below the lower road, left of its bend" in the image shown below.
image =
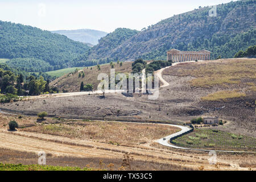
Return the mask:
<path id="1" fill-rule="evenodd" d="M 19 119 L 17 115 L 9 114 L 0 115 L 0 127 L 8 129 L 8 123 L 11 120 L 18 122 L 20 131 L 33 131 L 125 146 L 144 144 L 180 130 L 172 126 L 147 123 L 76 121 L 68 119 L 60 119 L 59 121 L 53 118 L 47 118 L 42 123 L 36 123 L 36 118 L 34 117 L 22 116 Z"/>

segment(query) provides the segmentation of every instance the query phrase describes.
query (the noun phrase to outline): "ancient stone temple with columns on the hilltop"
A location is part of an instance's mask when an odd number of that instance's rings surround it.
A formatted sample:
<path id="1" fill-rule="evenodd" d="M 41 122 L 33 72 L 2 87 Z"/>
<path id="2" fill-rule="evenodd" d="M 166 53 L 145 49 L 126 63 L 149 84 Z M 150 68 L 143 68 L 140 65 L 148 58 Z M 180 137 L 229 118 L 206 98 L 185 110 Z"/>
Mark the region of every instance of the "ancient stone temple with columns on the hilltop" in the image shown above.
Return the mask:
<path id="1" fill-rule="evenodd" d="M 210 60 L 210 51 L 179 51 L 171 49 L 167 51 L 167 61 L 175 62 L 195 61 L 195 60 Z"/>

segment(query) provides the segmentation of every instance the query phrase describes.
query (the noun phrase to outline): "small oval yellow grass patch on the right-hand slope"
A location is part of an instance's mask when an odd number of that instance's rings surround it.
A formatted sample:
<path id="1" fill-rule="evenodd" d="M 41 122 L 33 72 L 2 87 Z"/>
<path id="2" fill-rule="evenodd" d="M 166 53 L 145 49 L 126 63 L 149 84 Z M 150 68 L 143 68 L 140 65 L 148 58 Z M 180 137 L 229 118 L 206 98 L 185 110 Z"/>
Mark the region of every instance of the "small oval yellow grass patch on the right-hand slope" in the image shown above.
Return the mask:
<path id="1" fill-rule="evenodd" d="M 208 94 L 205 97 L 202 97 L 202 100 L 207 101 L 226 101 L 228 98 L 238 98 L 245 97 L 245 93 L 236 92 L 236 91 L 219 91 L 212 94 Z"/>

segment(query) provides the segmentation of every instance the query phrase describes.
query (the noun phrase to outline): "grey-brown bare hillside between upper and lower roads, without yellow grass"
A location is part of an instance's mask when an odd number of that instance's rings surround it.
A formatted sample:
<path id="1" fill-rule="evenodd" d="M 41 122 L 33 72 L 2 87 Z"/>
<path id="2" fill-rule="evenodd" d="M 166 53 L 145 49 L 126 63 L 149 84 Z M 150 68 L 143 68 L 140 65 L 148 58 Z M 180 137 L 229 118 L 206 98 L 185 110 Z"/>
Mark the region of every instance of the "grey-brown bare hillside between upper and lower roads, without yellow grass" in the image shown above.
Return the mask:
<path id="1" fill-rule="evenodd" d="M 199 66 L 203 69 L 208 65 L 214 68 L 216 66 L 214 64 L 221 66 L 229 61 L 234 60 L 181 63 L 165 69 L 163 78 L 170 85 L 160 88 L 157 100 L 148 100 L 146 94 L 134 94 L 132 97 L 123 94 L 105 94 L 105 98 L 100 95 L 77 95 L 1 104 L 0 109 L 22 114 L 47 111 L 53 117 L 63 118 L 171 123 L 188 122 L 201 115 L 218 115 L 230 121 L 230 125 L 220 127 L 223 130 L 256 136 L 255 92 L 250 90 L 251 85 L 247 85 L 248 83 L 256 84 L 255 78 L 243 78 L 239 84 L 229 84 L 228 87 L 226 87 L 227 84 L 212 87 L 191 85 L 191 81 L 196 77 L 192 74 L 193 72 L 188 72 L 189 70 L 194 71 Z M 233 75 L 233 73 L 223 74 Z M 227 101 L 201 100 L 201 97 L 210 93 L 227 89 L 242 89 L 246 97 L 232 98 Z"/>

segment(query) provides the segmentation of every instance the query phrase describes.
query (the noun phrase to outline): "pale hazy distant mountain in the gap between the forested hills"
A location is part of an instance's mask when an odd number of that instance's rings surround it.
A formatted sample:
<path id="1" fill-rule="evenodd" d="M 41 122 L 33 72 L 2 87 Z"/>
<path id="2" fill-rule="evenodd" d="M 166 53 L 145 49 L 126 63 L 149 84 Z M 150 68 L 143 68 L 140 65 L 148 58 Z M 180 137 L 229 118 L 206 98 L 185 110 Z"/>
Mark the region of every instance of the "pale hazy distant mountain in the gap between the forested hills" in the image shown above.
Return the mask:
<path id="1" fill-rule="evenodd" d="M 80 29 L 80 30 L 56 30 L 51 31 L 52 33 L 65 35 L 69 39 L 82 42 L 82 43 L 89 43 L 95 46 L 98 44 L 98 40 L 100 38 L 106 36 L 108 33 L 98 30 L 90 30 L 90 29 Z"/>

